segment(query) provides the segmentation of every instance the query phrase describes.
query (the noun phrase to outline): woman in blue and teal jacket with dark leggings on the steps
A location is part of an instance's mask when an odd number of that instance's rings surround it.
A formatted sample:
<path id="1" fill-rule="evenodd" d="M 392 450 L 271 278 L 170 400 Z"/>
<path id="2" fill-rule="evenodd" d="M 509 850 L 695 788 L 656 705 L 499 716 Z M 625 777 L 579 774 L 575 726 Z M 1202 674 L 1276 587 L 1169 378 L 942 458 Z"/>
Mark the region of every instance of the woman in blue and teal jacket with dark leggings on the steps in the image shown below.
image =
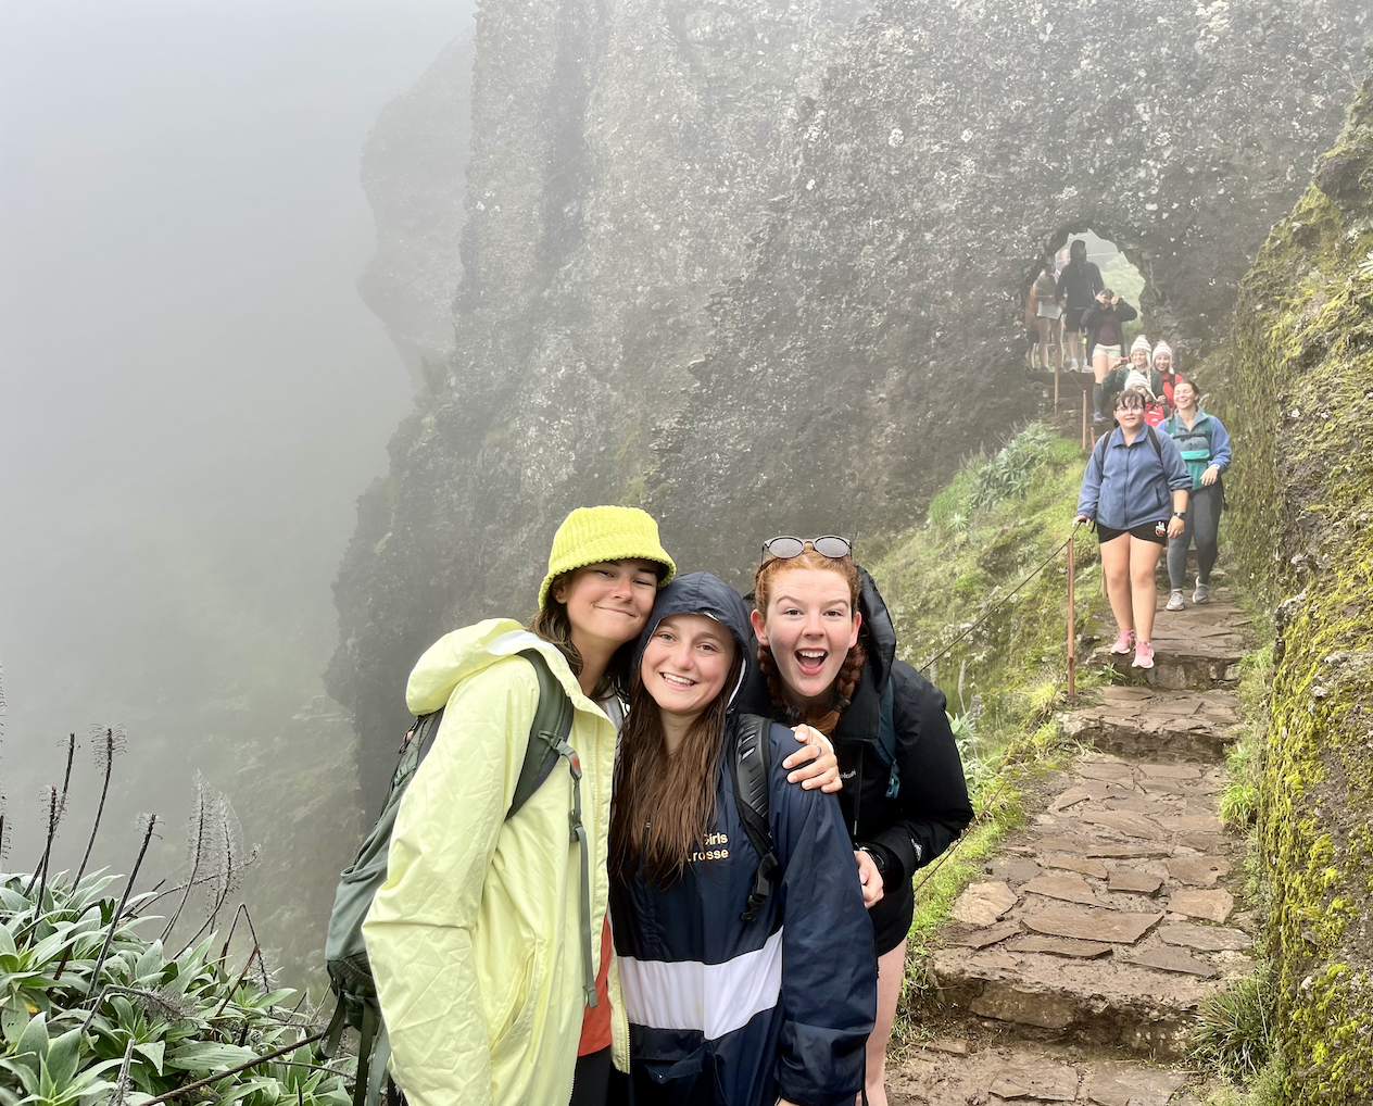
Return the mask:
<path id="1" fill-rule="evenodd" d="M 1179 376 L 1173 396 L 1178 409 L 1163 429 L 1178 444 L 1192 475 L 1192 499 L 1182 533 L 1168 537 L 1168 587 L 1173 594 L 1166 610 L 1182 610 L 1188 547 L 1193 540 L 1197 545 L 1197 581 L 1192 602 L 1205 603 L 1211 598 L 1211 569 L 1219 552 L 1216 534 L 1225 507 L 1225 481 L 1221 477 L 1230 467 L 1230 436 L 1215 415 L 1199 409 L 1197 389 L 1192 381 Z"/>

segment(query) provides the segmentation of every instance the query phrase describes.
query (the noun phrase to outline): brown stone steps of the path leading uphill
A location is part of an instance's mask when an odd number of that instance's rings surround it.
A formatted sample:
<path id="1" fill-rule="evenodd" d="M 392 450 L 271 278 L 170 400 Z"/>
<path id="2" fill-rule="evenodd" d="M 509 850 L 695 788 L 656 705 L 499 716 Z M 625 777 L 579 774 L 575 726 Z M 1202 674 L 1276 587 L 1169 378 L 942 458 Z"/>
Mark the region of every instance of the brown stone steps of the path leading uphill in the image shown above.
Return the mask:
<path id="1" fill-rule="evenodd" d="M 1196 1010 L 1251 971 L 1244 842 L 1218 816 L 1244 620 L 1222 592 L 1160 609 L 1153 640 L 1152 670 L 1116 661 L 1127 683 L 1060 719 L 1094 752 L 939 930 L 928 967 L 949 1022 L 888 1069 L 894 1105 L 1193 1102 L 1179 1061 Z M 1089 664 L 1112 661 L 1103 647 Z"/>

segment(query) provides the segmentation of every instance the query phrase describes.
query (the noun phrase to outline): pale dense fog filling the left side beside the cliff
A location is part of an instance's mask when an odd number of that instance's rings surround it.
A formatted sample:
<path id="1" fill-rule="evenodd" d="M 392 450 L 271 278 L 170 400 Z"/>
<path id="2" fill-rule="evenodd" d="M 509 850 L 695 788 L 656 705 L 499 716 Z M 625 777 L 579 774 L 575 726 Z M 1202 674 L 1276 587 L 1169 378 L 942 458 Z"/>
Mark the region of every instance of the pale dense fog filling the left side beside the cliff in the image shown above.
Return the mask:
<path id="1" fill-rule="evenodd" d="M 11 870 L 37 860 L 73 731 L 56 864 L 80 859 L 92 723 L 128 728 L 96 863 L 126 871 L 155 811 L 148 870 L 170 874 L 198 769 L 264 846 L 259 894 L 290 886 L 302 819 L 310 878 L 346 861 L 353 732 L 316 702 L 330 585 L 412 403 L 356 290 L 375 249 L 358 153 L 471 18 L 463 0 L 0 5 Z M 302 742 L 313 776 L 290 775 Z M 303 912 L 268 937 L 287 960 L 310 944 L 292 927 L 323 922 Z"/>

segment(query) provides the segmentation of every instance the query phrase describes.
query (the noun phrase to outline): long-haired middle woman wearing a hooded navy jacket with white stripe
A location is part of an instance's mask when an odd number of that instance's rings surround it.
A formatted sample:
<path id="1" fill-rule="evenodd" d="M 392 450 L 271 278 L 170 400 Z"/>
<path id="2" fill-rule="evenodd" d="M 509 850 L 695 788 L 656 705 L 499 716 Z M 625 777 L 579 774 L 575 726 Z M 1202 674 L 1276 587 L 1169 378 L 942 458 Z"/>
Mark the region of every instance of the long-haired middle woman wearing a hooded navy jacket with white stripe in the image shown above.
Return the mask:
<path id="1" fill-rule="evenodd" d="M 788 786 L 763 752 L 781 864 L 751 921 L 759 856 L 729 772 L 748 610 L 708 573 L 659 594 L 640 637 L 611 806 L 611 926 L 633 1101 L 839 1106 L 862 1088 L 876 1008 L 872 926 L 833 795 Z"/>

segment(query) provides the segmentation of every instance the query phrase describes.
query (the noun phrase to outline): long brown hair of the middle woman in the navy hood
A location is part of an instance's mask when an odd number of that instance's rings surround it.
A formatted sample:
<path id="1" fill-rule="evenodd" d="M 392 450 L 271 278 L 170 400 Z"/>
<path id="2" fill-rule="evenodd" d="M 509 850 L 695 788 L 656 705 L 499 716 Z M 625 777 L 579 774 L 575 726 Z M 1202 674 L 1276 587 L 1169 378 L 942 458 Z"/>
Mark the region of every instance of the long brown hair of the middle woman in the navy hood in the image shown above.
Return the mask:
<path id="1" fill-rule="evenodd" d="M 660 888 L 676 883 L 703 849 L 715 819 L 715 776 L 725 742 L 729 697 L 739 686 L 743 651 L 719 694 L 692 723 L 676 753 L 663 741 L 662 713 L 634 673 L 629 717 L 619 738 L 619 765 L 610 804 L 610 870 L 619 879 L 629 864 Z"/>

